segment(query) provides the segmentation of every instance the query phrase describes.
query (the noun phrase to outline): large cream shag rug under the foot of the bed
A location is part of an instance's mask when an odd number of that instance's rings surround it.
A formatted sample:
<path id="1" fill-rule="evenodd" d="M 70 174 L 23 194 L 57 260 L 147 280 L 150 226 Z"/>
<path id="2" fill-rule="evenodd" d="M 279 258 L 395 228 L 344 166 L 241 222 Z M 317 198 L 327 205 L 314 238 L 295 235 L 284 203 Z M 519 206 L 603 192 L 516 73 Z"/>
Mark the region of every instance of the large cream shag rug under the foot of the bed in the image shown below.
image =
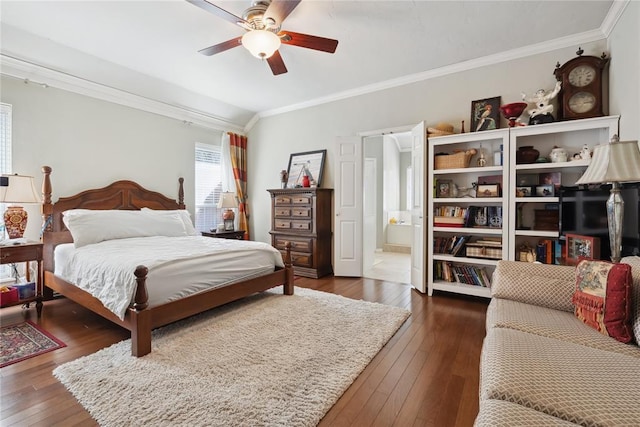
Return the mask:
<path id="1" fill-rule="evenodd" d="M 53 374 L 102 426 L 315 426 L 408 310 L 281 287 L 158 329 Z"/>

